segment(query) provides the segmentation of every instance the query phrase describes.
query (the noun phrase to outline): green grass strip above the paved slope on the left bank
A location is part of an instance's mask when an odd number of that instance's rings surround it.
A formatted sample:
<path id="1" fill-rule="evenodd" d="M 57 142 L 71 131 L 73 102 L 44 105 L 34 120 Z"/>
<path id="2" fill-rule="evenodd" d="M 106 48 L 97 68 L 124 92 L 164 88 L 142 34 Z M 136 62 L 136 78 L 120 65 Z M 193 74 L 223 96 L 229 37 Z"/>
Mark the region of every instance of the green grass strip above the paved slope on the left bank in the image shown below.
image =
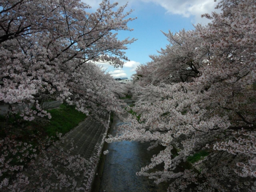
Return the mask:
<path id="1" fill-rule="evenodd" d="M 15 136 L 24 142 L 32 134 L 42 137 L 55 136 L 56 132 L 66 134 L 82 122 L 86 115 L 77 111 L 75 106 L 61 104 L 59 108 L 47 110 L 52 118 L 35 119 L 32 122 L 23 120 L 19 114 L 9 117 L 8 124 L 5 116 L 0 116 L 0 137 Z"/>

